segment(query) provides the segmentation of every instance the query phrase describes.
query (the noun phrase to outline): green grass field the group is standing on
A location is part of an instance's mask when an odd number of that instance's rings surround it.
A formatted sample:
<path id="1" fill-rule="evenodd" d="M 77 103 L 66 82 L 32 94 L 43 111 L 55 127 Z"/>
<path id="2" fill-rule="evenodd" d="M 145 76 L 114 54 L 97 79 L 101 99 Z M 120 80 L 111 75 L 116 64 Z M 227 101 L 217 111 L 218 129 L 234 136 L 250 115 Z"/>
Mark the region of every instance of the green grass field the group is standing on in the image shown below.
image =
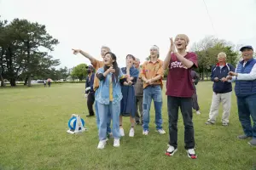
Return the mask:
<path id="1" fill-rule="evenodd" d="M 212 82 L 199 82 L 197 92 L 201 115 L 194 114 L 197 160 L 190 160 L 184 150 L 183 120 L 178 121 L 178 151 L 165 156 L 168 142 L 166 90 L 163 90 L 163 127 L 165 135 L 154 132 L 154 108 L 151 110 L 150 133 L 136 127 L 129 138 L 129 118 L 124 119 L 125 137 L 120 147 L 113 139 L 104 150 L 97 150 L 95 117 L 86 118 L 84 84 L 53 84 L 51 88 L 0 88 L 0 169 L 253 169 L 256 148 L 247 140 L 238 140 L 242 133 L 238 121 L 236 96 L 233 94 L 230 126 L 221 126 L 222 111 L 214 126 L 206 126 L 212 100 Z M 84 118 L 89 131 L 67 133 L 71 114 Z"/>

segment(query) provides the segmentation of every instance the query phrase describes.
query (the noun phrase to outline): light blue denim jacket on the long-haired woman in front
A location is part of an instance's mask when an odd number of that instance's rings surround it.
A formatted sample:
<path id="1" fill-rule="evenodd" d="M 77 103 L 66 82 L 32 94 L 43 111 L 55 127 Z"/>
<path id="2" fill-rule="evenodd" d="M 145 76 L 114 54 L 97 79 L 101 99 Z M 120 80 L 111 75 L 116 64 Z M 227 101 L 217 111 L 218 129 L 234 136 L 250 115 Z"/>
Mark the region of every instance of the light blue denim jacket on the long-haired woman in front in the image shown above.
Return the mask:
<path id="1" fill-rule="evenodd" d="M 104 73 L 104 68 L 100 68 L 97 71 L 97 74 L 99 73 Z M 124 74 L 123 72 L 119 69 L 119 79 L 124 78 Z M 107 75 L 107 77 L 100 81 L 100 87 L 97 89 L 97 94 L 96 94 L 96 101 L 101 103 L 102 105 L 109 105 L 110 99 L 109 99 L 109 88 L 111 88 L 109 86 L 110 84 L 110 80 L 112 80 L 112 73 L 109 73 Z M 121 99 L 123 98 L 122 92 L 121 92 L 121 86 L 120 86 L 120 82 L 112 82 L 113 85 L 113 104 L 117 104 L 121 101 Z"/>

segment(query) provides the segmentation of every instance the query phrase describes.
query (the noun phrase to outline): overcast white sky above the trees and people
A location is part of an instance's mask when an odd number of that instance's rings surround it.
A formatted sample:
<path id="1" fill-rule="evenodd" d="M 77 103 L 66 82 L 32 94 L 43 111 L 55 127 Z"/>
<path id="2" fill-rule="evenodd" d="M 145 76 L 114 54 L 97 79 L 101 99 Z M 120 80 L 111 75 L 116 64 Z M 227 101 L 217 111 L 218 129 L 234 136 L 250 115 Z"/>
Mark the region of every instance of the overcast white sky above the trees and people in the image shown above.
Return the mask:
<path id="1" fill-rule="evenodd" d="M 256 0 L 0 0 L 4 20 L 38 22 L 60 41 L 52 55 L 60 66 L 90 64 L 71 48 L 100 57 L 109 46 L 125 65 L 126 54 L 142 61 L 149 48 L 160 47 L 160 59 L 169 48 L 169 37 L 185 33 L 190 44 L 209 35 L 256 48 Z M 212 28 L 212 24 L 214 30 Z"/>

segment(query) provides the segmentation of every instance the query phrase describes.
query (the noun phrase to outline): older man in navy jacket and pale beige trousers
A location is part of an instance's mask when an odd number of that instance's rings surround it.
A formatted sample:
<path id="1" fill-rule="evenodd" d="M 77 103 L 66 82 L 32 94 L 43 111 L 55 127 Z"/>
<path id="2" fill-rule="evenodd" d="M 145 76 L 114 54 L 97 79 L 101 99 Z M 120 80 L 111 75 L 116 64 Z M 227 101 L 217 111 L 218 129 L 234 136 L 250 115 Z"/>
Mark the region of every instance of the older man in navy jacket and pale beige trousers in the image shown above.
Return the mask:
<path id="1" fill-rule="evenodd" d="M 226 77 L 230 71 L 235 71 L 235 68 L 233 65 L 226 63 L 226 58 L 225 53 L 219 53 L 217 65 L 212 66 L 211 80 L 213 82 L 213 94 L 209 119 L 206 122 L 207 125 L 216 122 L 220 102 L 222 102 L 223 105 L 222 125 L 229 125 L 232 84 L 231 82 L 227 82 Z"/>

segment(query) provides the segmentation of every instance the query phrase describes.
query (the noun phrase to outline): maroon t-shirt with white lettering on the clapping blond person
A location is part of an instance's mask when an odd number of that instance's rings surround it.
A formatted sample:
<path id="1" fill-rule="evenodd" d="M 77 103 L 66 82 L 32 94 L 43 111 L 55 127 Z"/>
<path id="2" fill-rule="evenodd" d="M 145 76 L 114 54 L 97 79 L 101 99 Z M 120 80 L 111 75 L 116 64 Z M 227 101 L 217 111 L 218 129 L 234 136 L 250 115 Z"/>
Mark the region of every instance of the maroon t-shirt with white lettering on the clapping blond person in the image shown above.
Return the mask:
<path id="1" fill-rule="evenodd" d="M 184 56 L 185 59 L 189 59 L 197 67 L 197 55 L 190 52 Z M 169 65 L 169 71 L 166 81 L 166 95 L 172 97 L 190 98 L 194 94 L 194 87 L 192 78 L 190 75 L 191 68 L 188 69 L 183 65 L 175 54 L 171 54 L 171 60 Z"/>

